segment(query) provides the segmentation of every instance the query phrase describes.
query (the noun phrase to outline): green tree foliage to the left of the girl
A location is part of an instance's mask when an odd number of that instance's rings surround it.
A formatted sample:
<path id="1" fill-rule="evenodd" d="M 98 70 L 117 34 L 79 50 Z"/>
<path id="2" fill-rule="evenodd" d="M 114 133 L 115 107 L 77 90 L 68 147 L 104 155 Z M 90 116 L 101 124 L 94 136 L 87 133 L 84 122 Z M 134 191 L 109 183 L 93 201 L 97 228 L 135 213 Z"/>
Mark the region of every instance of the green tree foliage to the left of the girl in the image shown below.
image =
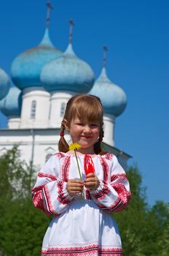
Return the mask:
<path id="1" fill-rule="evenodd" d="M 40 255 L 49 218 L 34 208 L 35 170 L 20 160 L 17 146 L 0 157 L 0 252 L 3 256 Z"/>

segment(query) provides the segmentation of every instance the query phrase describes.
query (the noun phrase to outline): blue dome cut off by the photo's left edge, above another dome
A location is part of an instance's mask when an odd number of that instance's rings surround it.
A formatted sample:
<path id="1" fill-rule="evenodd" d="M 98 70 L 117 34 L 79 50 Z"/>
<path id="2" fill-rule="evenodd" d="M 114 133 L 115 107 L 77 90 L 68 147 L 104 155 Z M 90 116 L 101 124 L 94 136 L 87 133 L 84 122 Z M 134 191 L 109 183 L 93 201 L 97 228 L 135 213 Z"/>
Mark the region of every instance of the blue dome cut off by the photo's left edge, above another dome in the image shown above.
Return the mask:
<path id="1" fill-rule="evenodd" d="M 0 68 L 0 99 L 3 99 L 10 87 L 9 77 L 3 69 Z"/>

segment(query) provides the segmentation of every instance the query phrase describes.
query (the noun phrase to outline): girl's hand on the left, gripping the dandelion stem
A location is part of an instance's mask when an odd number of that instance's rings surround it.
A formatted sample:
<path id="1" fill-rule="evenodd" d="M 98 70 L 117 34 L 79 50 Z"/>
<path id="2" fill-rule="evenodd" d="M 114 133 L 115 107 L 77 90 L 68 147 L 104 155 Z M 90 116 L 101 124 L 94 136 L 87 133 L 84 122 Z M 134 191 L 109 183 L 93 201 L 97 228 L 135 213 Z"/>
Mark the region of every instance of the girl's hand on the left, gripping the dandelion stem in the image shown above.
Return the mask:
<path id="1" fill-rule="evenodd" d="M 68 195 L 73 197 L 76 194 L 82 193 L 84 187 L 83 181 L 79 181 L 76 179 L 69 179 L 67 182 L 66 189 L 68 191 Z"/>

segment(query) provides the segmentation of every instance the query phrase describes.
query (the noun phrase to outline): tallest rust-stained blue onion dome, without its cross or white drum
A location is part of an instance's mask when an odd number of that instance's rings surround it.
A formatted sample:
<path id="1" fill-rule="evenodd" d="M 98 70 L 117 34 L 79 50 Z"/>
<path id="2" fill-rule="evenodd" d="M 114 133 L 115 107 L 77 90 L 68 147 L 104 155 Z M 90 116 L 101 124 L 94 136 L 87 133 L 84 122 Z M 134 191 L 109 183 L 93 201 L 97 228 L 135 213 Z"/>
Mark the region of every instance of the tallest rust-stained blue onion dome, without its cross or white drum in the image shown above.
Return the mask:
<path id="1" fill-rule="evenodd" d="M 60 50 L 52 45 L 48 29 L 46 29 L 42 42 L 36 48 L 26 50 L 12 62 L 13 82 L 19 89 L 42 86 L 40 82 L 42 67 L 51 59 L 58 58 L 62 54 Z"/>

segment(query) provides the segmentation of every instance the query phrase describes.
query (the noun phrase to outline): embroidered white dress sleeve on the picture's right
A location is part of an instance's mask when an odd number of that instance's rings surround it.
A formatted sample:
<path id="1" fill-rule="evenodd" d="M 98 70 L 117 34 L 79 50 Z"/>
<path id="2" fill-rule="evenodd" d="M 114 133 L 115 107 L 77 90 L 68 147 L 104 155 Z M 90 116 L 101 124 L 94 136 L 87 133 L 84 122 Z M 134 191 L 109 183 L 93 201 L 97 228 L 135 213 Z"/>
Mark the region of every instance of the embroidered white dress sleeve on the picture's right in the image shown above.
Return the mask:
<path id="1" fill-rule="evenodd" d="M 103 210 L 122 211 L 131 197 L 130 185 L 117 157 L 112 154 L 111 157 L 110 165 L 107 159 L 102 159 L 103 181 L 100 181 L 98 189 L 90 189 L 90 195 Z"/>

